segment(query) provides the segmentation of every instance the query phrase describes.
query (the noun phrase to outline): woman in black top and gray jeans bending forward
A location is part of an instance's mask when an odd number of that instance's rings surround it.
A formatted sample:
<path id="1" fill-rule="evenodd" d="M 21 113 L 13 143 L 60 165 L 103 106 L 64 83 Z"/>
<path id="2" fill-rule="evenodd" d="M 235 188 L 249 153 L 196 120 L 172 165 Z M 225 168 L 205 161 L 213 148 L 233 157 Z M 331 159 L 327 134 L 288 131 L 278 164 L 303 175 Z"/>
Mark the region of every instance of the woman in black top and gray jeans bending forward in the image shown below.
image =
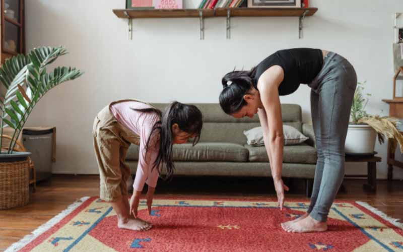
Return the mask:
<path id="1" fill-rule="evenodd" d="M 275 52 L 250 71 L 233 71 L 222 79 L 222 109 L 236 118 L 258 114 L 264 145 L 281 209 L 284 190 L 283 121 L 280 95 L 295 92 L 300 83 L 311 88 L 311 116 L 317 163 L 311 203 L 306 214 L 282 223 L 288 232 L 327 229 L 327 215 L 344 177 L 347 129 L 357 75 L 344 57 L 320 49 L 294 48 Z"/>

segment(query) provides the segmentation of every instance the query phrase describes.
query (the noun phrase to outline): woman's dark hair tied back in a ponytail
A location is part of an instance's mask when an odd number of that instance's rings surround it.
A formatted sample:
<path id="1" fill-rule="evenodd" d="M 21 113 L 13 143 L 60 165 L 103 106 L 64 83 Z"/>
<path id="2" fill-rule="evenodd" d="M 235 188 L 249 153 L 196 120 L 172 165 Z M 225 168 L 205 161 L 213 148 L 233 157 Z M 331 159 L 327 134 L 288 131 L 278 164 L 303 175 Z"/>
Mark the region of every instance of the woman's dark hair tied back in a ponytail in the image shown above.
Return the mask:
<path id="1" fill-rule="evenodd" d="M 253 87 L 255 73 L 256 68 L 252 68 L 250 71 L 234 70 L 223 77 L 220 105 L 225 113 L 233 114 L 246 105 L 243 96 L 248 94 L 250 88 Z M 231 84 L 228 85 L 228 82 Z"/>

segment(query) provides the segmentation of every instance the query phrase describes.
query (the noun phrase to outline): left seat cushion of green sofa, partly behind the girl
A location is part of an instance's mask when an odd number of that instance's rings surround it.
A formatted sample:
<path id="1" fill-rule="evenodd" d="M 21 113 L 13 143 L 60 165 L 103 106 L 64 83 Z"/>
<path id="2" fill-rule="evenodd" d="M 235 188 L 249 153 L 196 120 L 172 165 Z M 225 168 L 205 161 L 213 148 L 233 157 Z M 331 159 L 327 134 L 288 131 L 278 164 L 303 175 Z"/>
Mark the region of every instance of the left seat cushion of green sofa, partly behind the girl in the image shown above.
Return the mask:
<path id="1" fill-rule="evenodd" d="M 173 146 L 174 161 L 228 161 L 247 162 L 248 149 L 239 144 L 232 143 L 198 143 L 179 144 Z M 126 155 L 127 161 L 139 160 L 139 146 L 130 145 Z"/>

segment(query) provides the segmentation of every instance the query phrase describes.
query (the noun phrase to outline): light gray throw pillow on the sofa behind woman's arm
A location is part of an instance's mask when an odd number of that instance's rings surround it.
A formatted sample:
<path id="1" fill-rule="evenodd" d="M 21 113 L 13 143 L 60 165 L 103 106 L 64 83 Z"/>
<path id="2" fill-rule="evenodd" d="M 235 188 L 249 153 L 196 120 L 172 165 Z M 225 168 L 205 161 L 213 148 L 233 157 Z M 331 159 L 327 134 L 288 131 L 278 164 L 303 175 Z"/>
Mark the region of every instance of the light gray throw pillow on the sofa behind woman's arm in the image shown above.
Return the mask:
<path id="1" fill-rule="evenodd" d="M 303 143 L 308 139 L 301 132 L 290 125 L 283 125 L 284 133 L 284 145 L 296 145 Z M 247 144 L 251 146 L 264 146 L 263 130 L 261 127 L 256 127 L 248 131 L 244 131 L 243 134 L 247 138 Z"/>

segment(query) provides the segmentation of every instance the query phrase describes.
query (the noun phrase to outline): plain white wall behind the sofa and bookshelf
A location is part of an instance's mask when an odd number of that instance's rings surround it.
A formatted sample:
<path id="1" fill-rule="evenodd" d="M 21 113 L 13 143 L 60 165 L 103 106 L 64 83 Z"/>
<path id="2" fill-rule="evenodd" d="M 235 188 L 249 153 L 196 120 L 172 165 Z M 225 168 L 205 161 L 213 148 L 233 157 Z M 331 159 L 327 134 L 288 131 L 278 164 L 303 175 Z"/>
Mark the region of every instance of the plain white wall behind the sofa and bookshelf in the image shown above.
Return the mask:
<path id="1" fill-rule="evenodd" d="M 92 123 L 108 102 L 139 98 L 151 102 L 218 102 L 221 77 L 251 68 L 278 49 L 313 47 L 332 50 L 355 66 L 359 81 L 372 93 L 368 111 L 387 115 L 381 99 L 392 95 L 393 13 L 403 12 L 401 0 L 311 0 L 319 10 L 305 20 L 298 39 L 298 18 L 232 18 L 231 39 L 225 19 L 205 20 L 205 40 L 199 40 L 198 19 L 140 19 L 133 21 L 128 40 L 127 20 L 112 9 L 124 0 L 26 1 L 27 48 L 65 45 L 70 54 L 57 65 L 85 71 L 78 80 L 51 90 L 38 103 L 28 124 L 55 125 L 57 162 L 54 173 L 98 173 L 92 147 Z M 194 8 L 196 0 L 185 0 Z M 282 97 L 302 106 L 310 121 L 309 88 L 301 86 Z M 385 160 L 386 144 L 376 151 Z M 400 155 L 400 154 L 399 154 Z M 401 158 L 400 158 L 401 159 Z M 363 164 L 348 164 L 347 173 L 364 172 Z M 378 178 L 386 177 L 378 164 Z M 395 169 L 403 178 L 403 170 Z"/>

